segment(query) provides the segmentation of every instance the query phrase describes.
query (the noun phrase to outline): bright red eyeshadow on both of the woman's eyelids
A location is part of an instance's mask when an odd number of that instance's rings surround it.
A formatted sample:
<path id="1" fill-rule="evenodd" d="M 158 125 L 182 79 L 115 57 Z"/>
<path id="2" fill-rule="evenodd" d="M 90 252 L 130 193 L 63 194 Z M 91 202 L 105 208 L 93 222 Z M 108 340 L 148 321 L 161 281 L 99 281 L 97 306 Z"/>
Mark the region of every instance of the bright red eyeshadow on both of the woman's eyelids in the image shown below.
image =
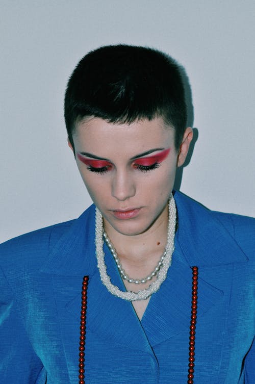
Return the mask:
<path id="1" fill-rule="evenodd" d="M 153 164 L 156 163 L 162 163 L 163 160 L 165 160 L 170 152 L 170 148 L 164 149 L 161 152 L 157 153 L 156 155 L 152 156 L 147 156 L 143 158 L 137 158 L 134 160 L 133 164 L 136 167 L 137 165 L 139 166 L 144 166 L 144 167 L 149 167 Z M 94 160 L 94 159 L 88 159 L 81 155 L 80 153 L 77 154 L 78 159 L 83 162 L 85 165 L 100 169 L 104 167 L 111 167 L 112 163 L 107 161 L 107 160 Z"/>

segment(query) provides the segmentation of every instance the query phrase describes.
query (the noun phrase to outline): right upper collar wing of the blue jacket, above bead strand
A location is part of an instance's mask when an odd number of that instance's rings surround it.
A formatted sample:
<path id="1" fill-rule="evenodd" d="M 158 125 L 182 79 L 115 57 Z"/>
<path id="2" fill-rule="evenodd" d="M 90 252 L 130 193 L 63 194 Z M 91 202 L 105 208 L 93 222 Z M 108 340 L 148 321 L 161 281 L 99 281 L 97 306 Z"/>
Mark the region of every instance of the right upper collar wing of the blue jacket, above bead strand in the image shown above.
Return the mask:
<path id="1" fill-rule="evenodd" d="M 227 214 L 210 211 L 180 192 L 175 192 L 174 198 L 179 220 L 177 237 L 188 265 L 203 267 L 248 260 L 230 233 L 234 228 Z M 228 230 L 217 218 L 222 216 Z"/>

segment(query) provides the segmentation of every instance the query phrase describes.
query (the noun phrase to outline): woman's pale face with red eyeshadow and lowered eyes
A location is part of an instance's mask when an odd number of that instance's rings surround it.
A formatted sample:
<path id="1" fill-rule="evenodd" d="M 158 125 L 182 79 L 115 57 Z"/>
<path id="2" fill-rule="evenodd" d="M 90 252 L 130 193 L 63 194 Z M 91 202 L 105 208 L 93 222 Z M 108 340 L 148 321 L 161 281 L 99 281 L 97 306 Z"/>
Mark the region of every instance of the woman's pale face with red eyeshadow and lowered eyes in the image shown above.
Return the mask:
<path id="1" fill-rule="evenodd" d="M 185 159 L 182 149 L 174 148 L 173 129 L 161 118 L 132 124 L 86 119 L 77 125 L 73 142 L 79 171 L 107 232 L 110 227 L 139 235 L 167 217 L 176 166 Z"/>

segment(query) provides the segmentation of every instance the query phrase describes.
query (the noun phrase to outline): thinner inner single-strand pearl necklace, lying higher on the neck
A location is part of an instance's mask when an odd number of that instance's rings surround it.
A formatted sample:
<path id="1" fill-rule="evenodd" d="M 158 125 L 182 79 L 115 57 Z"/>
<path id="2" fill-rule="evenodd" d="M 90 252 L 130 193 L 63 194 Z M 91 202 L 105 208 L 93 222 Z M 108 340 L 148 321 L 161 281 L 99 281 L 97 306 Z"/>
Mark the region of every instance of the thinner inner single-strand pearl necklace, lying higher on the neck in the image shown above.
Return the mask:
<path id="1" fill-rule="evenodd" d="M 111 253 L 113 255 L 113 258 L 114 258 L 114 260 L 116 262 L 116 265 L 117 265 L 117 268 L 119 270 L 120 276 L 122 277 L 123 280 L 127 280 L 129 283 L 144 284 L 147 281 L 151 280 L 152 277 L 157 276 L 160 268 L 163 265 L 163 260 L 164 260 L 164 257 L 166 255 L 166 251 L 164 251 L 164 253 L 161 256 L 160 261 L 158 262 L 157 266 L 154 268 L 154 270 L 148 276 L 146 276 L 146 277 L 144 277 L 142 279 L 138 279 L 138 278 L 134 279 L 134 278 L 130 277 L 129 275 L 127 275 L 125 270 L 122 268 L 122 265 L 120 263 L 120 260 L 118 258 L 117 252 L 116 252 L 116 249 L 114 248 L 113 244 L 111 243 L 111 241 L 110 241 L 109 237 L 107 236 L 106 232 L 104 232 L 103 236 L 104 236 L 106 244 L 108 245 L 108 248 L 110 249 L 110 251 L 111 251 Z"/>

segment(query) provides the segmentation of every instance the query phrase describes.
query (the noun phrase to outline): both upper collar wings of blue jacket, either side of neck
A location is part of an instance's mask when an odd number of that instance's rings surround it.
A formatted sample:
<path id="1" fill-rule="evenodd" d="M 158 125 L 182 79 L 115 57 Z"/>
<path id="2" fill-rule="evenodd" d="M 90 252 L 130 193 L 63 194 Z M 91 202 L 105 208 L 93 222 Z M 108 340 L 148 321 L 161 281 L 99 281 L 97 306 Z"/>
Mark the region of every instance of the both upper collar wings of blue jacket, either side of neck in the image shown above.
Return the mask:
<path id="1" fill-rule="evenodd" d="M 179 222 L 177 237 L 189 266 L 247 261 L 232 234 L 214 212 L 180 192 L 175 192 L 174 198 Z M 53 245 L 41 271 L 66 276 L 80 276 L 82 271 L 93 274 L 96 268 L 95 258 L 91 257 L 95 254 L 94 233 L 95 206 L 92 205 L 73 221 L 68 231 Z"/>

